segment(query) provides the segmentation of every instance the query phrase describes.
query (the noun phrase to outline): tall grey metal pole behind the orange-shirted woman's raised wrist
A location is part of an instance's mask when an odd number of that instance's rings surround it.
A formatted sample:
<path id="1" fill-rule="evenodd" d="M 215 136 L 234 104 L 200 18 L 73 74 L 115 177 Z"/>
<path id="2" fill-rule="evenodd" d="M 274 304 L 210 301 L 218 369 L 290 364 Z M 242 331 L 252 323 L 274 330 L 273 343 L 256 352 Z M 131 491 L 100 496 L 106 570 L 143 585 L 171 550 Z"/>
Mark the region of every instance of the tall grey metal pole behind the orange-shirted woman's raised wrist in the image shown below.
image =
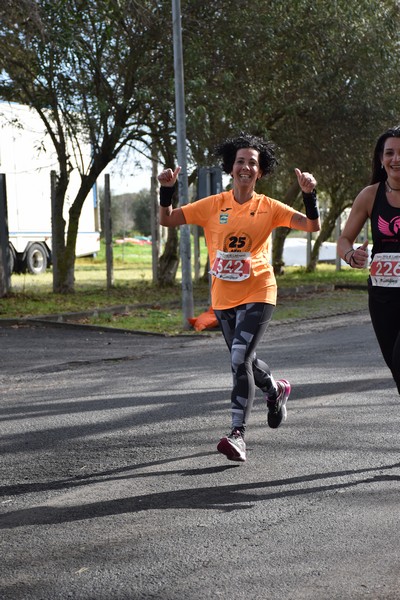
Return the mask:
<path id="1" fill-rule="evenodd" d="M 183 76 L 183 51 L 180 0 L 172 0 L 172 26 L 174 40 L 174 75 L 175 75 L 175 114 L 176 138 L 178 149 L 178 165 L 181 172 L 178 178 L 179 206 L 189 201 L 189 186 L 186 161 L 186 115 Z M 190 260 L 190 228 L 180 226 L 180 256 L 182 268 L 182 311 L 183 327 L 189 329 L 189 318 L 194 316 L 192 266 Z"/>

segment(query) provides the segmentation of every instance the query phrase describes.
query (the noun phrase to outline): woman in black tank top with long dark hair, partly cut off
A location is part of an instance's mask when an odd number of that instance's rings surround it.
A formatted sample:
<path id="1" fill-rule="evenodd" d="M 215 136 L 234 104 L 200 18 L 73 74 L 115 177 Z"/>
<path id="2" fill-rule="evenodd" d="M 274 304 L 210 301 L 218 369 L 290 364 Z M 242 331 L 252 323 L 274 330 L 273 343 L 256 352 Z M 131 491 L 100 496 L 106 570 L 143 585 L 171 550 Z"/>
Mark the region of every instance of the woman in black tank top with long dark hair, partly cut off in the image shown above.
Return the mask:
<path id="1" fill-rule="evenodd" d="M 367 219 L 373 242 L 368 307 L 383 358 L 400 394 L 400 126 L 379 137 L 371 184 L 356 197 L 338 239 L 339 255 L 355 269 L 368 262 L 368 240 L 353 247 Z"/>

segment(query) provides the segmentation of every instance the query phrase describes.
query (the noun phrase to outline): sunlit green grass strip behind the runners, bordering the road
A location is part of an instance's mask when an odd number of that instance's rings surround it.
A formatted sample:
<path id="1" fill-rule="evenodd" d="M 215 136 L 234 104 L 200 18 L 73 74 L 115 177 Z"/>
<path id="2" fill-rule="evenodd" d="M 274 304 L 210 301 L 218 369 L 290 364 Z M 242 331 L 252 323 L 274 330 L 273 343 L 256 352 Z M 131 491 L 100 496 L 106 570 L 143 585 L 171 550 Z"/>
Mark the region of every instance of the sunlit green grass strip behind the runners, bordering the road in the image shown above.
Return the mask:
<path id="1" fill-rule="evenodd" d="M 205 264 L 206 251 L 202 248 L 201 274 Z M 150 245 L 115 245 L 113 275 L 113 288 L 107 290 L 104 247 L 96 258 L 77 259 L 74 294 L 53 294 L 51 270 L 39 276 L 13 274 L 11 293 L 1 299 L 0 318 L 91 311 L 97 314 L 82 317 L 80 322 L 169 334 L 187 330 L 181 310 L 180 274 L 172 287 L 154 285 Z M 367 302 L 365 290 L 334 290 L 333 287 L 364 286 L 367 276 L 367 270 L 346 267 L 337 271 L 334 265 L 327 264 L 319 265 L 315 273 L 307 273 L 301 267 L 287 267 L 285 275 L 278 277 L 281 295 L 274 319 L 310 318 L 332 314 L 332 311 L 363 309 Z M 319 291 L 314 289 L 318 286 L 322 287 Z M 330 286 L 328 292 L 326 286 Z M 298 288 L 297 295 L 287 297 L 285 288 Z M 208 308 L 208 283 L 193 283 L 193 299 L 195 315 Z M 103 313 L 106 307 L 118 307 L 118 310 L 112 308 Z"/>

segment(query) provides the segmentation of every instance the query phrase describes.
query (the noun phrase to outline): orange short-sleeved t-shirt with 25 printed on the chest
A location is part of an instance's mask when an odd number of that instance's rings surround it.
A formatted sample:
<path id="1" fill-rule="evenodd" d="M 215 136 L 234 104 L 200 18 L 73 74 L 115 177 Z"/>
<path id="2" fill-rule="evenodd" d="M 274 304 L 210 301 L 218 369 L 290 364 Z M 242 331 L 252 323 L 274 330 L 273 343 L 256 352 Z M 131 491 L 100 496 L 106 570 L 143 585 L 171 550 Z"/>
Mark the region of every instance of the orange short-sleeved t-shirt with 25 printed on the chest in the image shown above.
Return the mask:
<path id="1" fill-rule="evenodd" d="M 269 262 L 271 233 L 276 227 L 290 227 L 297 211 L 263 194 L 253 194 L 251 200 L 239 204 L 232 191 L 186 204 L 182 210 L 187 224 L 203 227 L 211 267 L 218 251 L 250 257 L 246 279 L 212 277 L 213 308 L 223 310 L 249 302 L 276 304 L 276 280 Z"/>

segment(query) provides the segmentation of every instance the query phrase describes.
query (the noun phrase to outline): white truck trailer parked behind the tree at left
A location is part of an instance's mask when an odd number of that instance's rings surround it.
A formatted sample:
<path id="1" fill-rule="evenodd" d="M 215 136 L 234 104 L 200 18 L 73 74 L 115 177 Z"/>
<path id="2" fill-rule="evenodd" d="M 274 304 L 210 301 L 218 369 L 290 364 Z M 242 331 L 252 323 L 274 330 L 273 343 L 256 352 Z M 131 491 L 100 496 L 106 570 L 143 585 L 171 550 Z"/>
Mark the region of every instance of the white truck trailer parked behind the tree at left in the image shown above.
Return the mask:
<path id="1" fill-rule="evenodd" d="M 90 147 L 86 144 L 87 157 Z M 71 152 L 71 162 L 74 161 Z M 11 272 L 39 274 L 52 263 L 51 171 L 58 171 L 55 150 L 44 124 L 28 106 L 0 102 L 0 173 L 5 174 Z M 64 218 L 79 189 L 77 169 L 71 174 Z M 96 187 L 86 198 L 76 243 L 76 256 L 100 250 L 100 213 Z"/>

